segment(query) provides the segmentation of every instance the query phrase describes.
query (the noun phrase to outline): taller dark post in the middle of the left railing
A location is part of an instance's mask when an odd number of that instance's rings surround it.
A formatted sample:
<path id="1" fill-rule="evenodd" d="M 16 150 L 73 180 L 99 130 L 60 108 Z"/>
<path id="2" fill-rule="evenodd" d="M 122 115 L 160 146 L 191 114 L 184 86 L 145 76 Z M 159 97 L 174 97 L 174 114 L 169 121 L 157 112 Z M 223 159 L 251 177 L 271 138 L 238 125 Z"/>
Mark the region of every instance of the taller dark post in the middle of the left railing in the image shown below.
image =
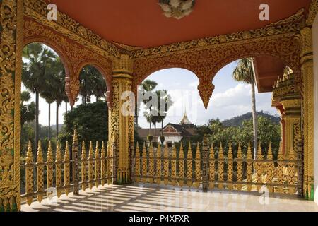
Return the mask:
<path id="1" fill-rule="evenodd" d="M 79 174 L 78 174 L 78 137 L 77 131 L 74 130 L 73 134 L 73 195 L 79 194 Z"/>

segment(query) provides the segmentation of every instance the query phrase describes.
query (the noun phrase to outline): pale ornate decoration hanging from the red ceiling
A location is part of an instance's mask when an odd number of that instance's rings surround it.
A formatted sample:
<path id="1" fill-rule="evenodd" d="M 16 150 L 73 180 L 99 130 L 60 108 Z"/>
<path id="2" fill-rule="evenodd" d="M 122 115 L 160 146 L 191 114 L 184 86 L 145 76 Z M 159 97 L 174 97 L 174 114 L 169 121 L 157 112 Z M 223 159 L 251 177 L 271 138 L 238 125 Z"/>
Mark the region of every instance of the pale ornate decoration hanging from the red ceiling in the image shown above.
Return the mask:
<path id="1" fill-rule="evenodd" d="M 195 0 L 159 0 L 163 14 L 178 20 L 192 13 L 194 4 Z"/>

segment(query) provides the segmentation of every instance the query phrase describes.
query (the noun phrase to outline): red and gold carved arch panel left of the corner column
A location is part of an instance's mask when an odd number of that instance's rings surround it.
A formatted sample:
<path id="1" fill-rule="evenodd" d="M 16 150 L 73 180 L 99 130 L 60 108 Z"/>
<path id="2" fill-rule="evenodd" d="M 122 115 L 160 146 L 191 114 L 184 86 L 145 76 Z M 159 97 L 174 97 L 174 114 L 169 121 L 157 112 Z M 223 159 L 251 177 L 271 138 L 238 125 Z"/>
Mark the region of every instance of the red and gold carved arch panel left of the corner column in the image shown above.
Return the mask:
<path id="1" fill-rule="evenodd" d="M 66 71 L 66 93 L 71 105 L 73 105 L 79 93 L 79 73 L 83 66 L 95 66 L 104 76 L 107 90 L 110 90 L 112 80 L 112 61 L 110 59 L 102 57 L 100 54 L 82 47 L 81 44 L 72 42 L 64 35 L 59 35 L 47 26 L 28 18 L 24 23 L 23 44 L 26 45 L 31 42 L 47 44 L 61 57 Z"/>

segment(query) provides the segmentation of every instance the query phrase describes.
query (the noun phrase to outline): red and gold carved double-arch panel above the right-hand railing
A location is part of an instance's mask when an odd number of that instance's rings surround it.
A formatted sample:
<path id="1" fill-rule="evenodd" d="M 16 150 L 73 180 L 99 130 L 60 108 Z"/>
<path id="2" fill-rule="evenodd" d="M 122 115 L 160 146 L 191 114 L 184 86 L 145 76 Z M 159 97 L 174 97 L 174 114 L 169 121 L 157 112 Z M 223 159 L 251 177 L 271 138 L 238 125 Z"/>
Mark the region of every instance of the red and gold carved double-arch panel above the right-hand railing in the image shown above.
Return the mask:
<path id="1" fill-rule="evenodd" d="M 281 36 L 261 37 L 228 44 L 217 44 L 200 51 L 175 52 L 134 59 L 134 91 L 136 92 L 136 86 L 154 71 L 180 67 L 194 72 L 199 78 L 198 89 L 204 105 L 207 106 L 213 91 L 212 80 L 220 69 L 243 57 L 266 55 L 285 61 L 293 69 L 295 80 L 300 83 L 300 46 L 298 40 L 294 39 L 294 35 L 290 33 Z"/>

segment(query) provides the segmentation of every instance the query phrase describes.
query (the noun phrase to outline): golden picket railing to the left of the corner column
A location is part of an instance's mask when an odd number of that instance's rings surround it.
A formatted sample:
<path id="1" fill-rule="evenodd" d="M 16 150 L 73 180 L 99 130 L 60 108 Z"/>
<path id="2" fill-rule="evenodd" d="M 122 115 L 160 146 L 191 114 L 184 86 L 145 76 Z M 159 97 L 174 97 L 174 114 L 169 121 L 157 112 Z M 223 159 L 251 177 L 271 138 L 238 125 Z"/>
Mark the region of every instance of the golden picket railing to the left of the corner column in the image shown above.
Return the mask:
<path id="1" fill-rule="evenodd" d="M 28 144 L 28 151 L 25 158 L 25 194 L 30 205 L 35 198 L 41 202 L 44 197 L 56 191 L 59 198 L 61 194 L 78 194 L 81 187 L 83 191 L 93 186 L 104 186 L 111 184 L 113 179 L 114 166 L 112 165 L 112 152 L 110 145 L 105 147 L 102 142 L 93 149 L 93 143 L 90 142 L 88 156 L 86 153 L 86 143 L 81 144 L 81 159 L 78 158 L 78 138 L 76 131 L 73 136 L 73 145 L 70 151 L 69 143 L 66 141 L 64 153 L 62 153 L 61 143 L 57 142 L 55 150 L 55 160 L 51 141 L 47 149 L 47 160 L 44 160 L 41 141 L 38 143 L 36 161 L 33 161 L 33 152 L 31 142 Z M 72 156 L 72 157 L 70 157 Z M 73 169 L 71 172 L 71 168 Z"/>

